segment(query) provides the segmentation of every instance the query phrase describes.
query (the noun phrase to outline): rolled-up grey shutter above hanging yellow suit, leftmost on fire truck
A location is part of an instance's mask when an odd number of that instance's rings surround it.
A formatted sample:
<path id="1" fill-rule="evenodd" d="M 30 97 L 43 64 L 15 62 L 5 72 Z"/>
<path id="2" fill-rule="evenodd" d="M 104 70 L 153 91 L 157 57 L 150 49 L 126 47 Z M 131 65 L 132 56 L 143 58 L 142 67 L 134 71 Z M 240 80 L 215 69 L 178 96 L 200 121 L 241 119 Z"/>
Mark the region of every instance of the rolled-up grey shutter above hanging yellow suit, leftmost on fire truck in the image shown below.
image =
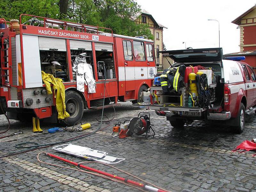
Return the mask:
<path id="1" fill-rule="evenodd" d="M 58 49 L 58 51 L 67 51 L 66 39 L 52 37 L 38 37 L 39 50 Z"/>

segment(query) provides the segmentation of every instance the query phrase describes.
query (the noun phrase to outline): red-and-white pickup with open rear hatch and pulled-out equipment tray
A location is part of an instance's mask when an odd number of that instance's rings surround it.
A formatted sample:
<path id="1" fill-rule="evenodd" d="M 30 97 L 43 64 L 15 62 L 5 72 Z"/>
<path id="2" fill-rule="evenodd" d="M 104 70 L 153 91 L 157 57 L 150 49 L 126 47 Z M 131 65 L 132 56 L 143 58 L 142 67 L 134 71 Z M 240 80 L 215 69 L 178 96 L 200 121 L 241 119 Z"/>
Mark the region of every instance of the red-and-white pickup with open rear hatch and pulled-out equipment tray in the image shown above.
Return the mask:
<path id="1" fill-rule="evenodd" d="M 169 68 L 170 71 L 181 65 L 185 65 L 186 70 L 189 67 L 207 73 L 209 72 L 207 70 L 211 70 L 212 77 L 207 75 L 208 86 L 201 90 L 202 92 L 204 89 L 207 90 L 208 100 L 205 94 L 199 93 L 199 90 L 197 95 L 191 91 L 191 84 L 197 81 L 188 79 L 186 71 L 184 83 L 180 85 L 179 90 L 175 91 L 171 82 L 168 83 L 172 90 L 167 94 L 163 92 L 161 85 L 151 86 L 151 102 L 137 103 L 133 108 L 154 109 L 157 115 L 166 116 L 167 121 L 170 121 L 175 128 L 183 127 L 185 123 L 188 124 L 194 120 L 213 120 L 232 126 L 236 133 L 243 132 L 245 110 L 256 106 L 256 77 L 248 64 L 223 57 L 222 48 L 160 51 L 159 53 L 175 61 Z M 206 70 L 199 70 L 199 68 Z M 165 72 L 168 73 L 168 70 Z M 198 78 L 199 76 L 200 74 Z M 198 84 L 197 89 L 200 89 Z M 189 105 L 190 98 L 193 100 L 192 106 Z M 205 104 L 200 104 L 204 100 Z M 255 110 L 256 108 L 252 108 L 248 113 L 254 113 Z"/>

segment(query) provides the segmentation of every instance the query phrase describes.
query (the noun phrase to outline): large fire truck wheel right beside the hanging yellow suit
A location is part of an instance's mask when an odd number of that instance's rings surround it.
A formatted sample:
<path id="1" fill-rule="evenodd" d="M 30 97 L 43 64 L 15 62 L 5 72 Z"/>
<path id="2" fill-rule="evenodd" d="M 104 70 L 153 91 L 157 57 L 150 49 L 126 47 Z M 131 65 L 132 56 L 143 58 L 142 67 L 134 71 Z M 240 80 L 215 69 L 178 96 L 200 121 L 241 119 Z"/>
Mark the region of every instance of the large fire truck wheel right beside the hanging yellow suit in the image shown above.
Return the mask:
<path id="1" fill-rule="evenodd" d="M 84 114 L 84 102 L 81 96 L 75 91 L 67 91 L 65 93 L 66 111 L 70 115 L 63 119 L 63 122 L 68 125 L 73 125 L 80 121 Z"/>

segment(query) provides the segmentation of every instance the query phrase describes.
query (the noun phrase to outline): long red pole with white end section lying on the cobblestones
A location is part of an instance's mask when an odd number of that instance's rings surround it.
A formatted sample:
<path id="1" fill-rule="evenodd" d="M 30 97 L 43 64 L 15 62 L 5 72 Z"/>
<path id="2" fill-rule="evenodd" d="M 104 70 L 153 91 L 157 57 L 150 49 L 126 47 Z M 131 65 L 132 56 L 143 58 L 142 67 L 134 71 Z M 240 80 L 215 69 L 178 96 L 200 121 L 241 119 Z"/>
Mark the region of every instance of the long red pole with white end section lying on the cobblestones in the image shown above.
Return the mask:
<path id="1" fill-rule="evenodd" d="M 117 175 L 112 175 L 110 173 L 107 173 L 107 172 L 103 172 L 103 171 L 100 171 L 100 170 L 97 170 L 97 169 L 93 169 L 91 167 L 87 167 L 83 164 L 79 164 L 79 163 L 76 163 L 74 161 L 69 161 L 67 159 L 64 159 L 62 157 L 59 157 L 59 156 L 56 156 L 56 155 L 53 155 L 51 153 L 47 153 L 48 156 L 50 157 L 53 157 L 53 158 L 56 158 L 56 159 L 59 159 L 61 161 L 64 161 L 66 163 L 70 163 L 70 164 L 73 164 L 75 166 L 78 166 L 78 167 L 81 167 L 81 168 L 84 168 L 84 169 L 87 169 L 89 171 L 93 171 L 93 172 L 96 172 L 96 173 L 99 173 L 99 174 L 102 174 L 102 175 L 105 175 L 107 177 L 111 177 L 111 178 L 114 178 L 114 179 L 117 179 L 117 180 L 121 180 L 121 181 L 124 181 L 126 183 L 129 183 L 129 184 L 132 184 L 132 185 L 135 185 L 137 187 L 140 187 L 140 188 L 143 188 L 143 189 L 147 189 L 149 191 L 154 191 L 154 192 L 167 192 L 166 190 L 162 190 L 162 189 L 158 189 L 158 188 L 154 188 L 154 187 L 150 187 L 148 185 L 145 185 L 145 184 L 142 184 L 142 183 L 138 183 L 136 181 L 132 181 L 132 180 L 129 180 L 129 179 L 125 179 L 123 177 L 119 177 Z"/>

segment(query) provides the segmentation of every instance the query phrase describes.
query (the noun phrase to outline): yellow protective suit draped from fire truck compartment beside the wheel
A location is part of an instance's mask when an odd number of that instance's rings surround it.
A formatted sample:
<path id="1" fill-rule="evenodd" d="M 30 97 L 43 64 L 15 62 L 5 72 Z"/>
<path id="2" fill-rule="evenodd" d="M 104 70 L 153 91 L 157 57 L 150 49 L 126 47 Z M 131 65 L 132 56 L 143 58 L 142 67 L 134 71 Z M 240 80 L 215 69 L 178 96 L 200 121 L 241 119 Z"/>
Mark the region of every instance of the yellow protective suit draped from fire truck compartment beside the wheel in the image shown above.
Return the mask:
<path id="1" fill-rule="evenodd" d="M 45 73 L 42 71 L 42 79 L 45 84 L 45 88 L 48 94 L 52 94 L 52 89 L 54 92 L 54 98 L 56 98 L 56 109 L 58 111 L 58 119 L 65 119 L 69 117 L 66 111 L 65 105 L 65 87 L 62 83 L 62 79 L 55 78 L 52 74 Z M 51 84 L 53 87 L 51 89 Z"/>

